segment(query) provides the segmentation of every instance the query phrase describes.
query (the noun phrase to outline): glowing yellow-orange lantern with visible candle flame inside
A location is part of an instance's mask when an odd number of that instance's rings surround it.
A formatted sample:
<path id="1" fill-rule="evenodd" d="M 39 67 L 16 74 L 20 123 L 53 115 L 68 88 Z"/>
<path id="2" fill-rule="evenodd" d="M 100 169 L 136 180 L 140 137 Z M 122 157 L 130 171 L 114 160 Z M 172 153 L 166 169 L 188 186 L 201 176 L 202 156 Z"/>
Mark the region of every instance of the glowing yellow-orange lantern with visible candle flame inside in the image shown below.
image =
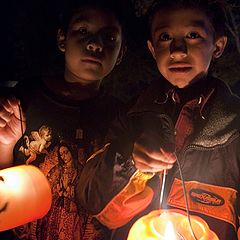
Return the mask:
<path id="1" fill-rule="evenodd" d="M 200 217 L 190 216 L 192 230 L 198 240 L 218 240 Z M 186 213 L 180 210 L 156 210 L 138 219 L 128 240 L 194 240 Z"/>

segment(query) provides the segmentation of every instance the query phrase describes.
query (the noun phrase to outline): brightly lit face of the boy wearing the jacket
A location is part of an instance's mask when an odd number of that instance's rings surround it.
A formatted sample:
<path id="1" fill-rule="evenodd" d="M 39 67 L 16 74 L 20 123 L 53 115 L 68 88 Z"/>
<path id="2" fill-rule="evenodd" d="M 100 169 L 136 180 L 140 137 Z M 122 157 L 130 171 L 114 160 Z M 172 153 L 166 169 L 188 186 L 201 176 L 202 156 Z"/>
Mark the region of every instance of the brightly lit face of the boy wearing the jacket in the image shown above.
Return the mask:
<path id="1" fill-rule="evenodd" d="M 206 75 L 212 58 L 220 57 L 226 37 L 214 40 L 212 25 L 198 9 L 161 9 L 153 17 L 148 47 L 160 73 L 184 88 Z"/>

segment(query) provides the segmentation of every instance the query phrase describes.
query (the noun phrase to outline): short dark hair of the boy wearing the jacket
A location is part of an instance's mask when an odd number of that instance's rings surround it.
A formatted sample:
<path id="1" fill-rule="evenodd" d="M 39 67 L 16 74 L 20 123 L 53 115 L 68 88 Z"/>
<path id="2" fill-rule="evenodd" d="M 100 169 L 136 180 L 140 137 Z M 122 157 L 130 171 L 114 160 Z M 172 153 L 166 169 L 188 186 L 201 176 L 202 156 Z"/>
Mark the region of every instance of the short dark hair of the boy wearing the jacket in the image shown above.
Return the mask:
<path id="1" fill-rule="evenodd" d="M 222 0 L 156 0 L 153 2 L 151 7 L 147 12 L 147 21 L 150 29 L 152 25 L 153 17 L 159 9 L 183 9 L 183 8 L 193 8 L 199 9 L 209 18 L 214 31 L 214 38 L 226 35 L 226 2 Z"/>

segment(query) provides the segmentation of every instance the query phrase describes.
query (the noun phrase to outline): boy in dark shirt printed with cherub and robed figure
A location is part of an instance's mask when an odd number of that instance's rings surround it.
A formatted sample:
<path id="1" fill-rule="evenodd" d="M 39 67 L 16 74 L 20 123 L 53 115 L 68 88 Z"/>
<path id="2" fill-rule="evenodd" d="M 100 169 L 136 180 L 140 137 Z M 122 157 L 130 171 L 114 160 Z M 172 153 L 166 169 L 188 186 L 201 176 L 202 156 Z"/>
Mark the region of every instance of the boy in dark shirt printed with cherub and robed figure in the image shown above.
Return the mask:
<path id="1" fill-rule="evenodd" d="M 86 159 L 101 146 L 118 114 L 120 103 L 101 95 L 99 87 L 121 62 L 123 19 L 111 2 L 75 1 L 68 2 L 61 20 L 57 43 L 65 58 L 64 75 L 33 86 L 20 83 L 11 92 L 14 98 L 0 102 L 2 167 L 12 161 L 38 166 L 53 195 L 44 218 L 14 232 L 18 239 L 108 239 L 109 230 L 76 204 L 74 188 Z"/>

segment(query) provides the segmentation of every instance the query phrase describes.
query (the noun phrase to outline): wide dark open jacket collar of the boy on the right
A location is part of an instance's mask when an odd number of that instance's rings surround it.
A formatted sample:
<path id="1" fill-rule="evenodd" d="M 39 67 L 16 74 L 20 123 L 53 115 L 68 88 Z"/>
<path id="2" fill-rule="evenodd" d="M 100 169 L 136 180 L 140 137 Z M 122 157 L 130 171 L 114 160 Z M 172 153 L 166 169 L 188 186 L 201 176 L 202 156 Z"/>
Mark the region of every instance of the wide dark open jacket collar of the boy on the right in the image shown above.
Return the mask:
<path id="1" fill-rule="evenodd" d="M 213 147 L 224 144 L 240 129 L 240 98 L 233 95 L 229 87 L 221 80 L 209 77 L 210 85 L 199 95 L 202 118 L 196 122 L 197 129 L 192 136 L 194 145 Z M 129 116 L 145 113 L 165 114 L 167 101 L 172 99 L 171 88 L 163 81 L 154 81 L 142 94 Z M 171 97 L 170 97 L 171 96 Z M 176 97 L 176 96 L 175 96 Z"/>

